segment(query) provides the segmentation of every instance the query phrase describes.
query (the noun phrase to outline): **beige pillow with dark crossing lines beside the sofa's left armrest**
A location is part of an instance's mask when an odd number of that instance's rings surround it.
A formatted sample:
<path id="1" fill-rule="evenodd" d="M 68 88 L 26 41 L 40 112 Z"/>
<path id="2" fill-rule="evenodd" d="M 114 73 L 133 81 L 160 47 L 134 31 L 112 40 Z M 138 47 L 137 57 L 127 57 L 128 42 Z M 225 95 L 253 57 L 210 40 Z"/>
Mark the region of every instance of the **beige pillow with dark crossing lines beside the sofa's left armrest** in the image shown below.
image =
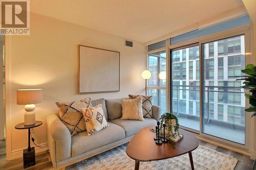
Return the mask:
<path id="1" fill-rule="evenodd" d="M 75 102 L 56 102 L 56 105 L 59 108 L 59 117 L 69 129 L 71 136 L 86 130 L 81 108 L 92 107 L 91 98 Z"/>

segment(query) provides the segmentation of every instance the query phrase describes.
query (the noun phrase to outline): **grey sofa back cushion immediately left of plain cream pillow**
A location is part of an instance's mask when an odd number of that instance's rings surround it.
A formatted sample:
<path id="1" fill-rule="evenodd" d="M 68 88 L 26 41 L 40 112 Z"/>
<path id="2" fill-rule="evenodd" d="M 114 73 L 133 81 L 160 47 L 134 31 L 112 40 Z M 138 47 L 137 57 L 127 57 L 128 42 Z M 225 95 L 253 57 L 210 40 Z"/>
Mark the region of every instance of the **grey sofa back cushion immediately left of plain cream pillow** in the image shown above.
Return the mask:
<path id="1" fill-rule="evenodd" d="M 106 99 L 105 103 L 109 120 L 122 117 L 121 99 Z"/>

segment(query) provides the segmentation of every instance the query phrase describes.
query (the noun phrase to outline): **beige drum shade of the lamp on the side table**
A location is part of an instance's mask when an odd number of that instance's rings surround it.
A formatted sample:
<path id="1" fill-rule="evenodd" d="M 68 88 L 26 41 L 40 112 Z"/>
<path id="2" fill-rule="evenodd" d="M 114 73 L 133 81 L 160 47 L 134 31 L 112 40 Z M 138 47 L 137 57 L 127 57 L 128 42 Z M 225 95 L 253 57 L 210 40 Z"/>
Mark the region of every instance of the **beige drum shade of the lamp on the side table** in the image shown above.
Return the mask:
<path id="1" fill-rule="evenodd" d="M 17 90 L 17 105 L 29 105 L 42 102 L 42 89 Z"/>

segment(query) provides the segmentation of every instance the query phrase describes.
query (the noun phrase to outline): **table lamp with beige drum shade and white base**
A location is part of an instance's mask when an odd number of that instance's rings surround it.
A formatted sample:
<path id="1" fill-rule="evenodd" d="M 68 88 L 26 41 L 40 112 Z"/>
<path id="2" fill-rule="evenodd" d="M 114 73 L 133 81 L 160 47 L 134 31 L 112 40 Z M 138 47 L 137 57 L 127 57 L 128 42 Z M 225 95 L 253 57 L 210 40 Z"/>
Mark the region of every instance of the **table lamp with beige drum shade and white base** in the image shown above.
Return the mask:
<path id="1" fill-rule="evenodd" d="M 18 89 L 17 105 L 26 105 L 24 125 L 35 124 L 35 105 L 42 102 L 42 89 Z"/>

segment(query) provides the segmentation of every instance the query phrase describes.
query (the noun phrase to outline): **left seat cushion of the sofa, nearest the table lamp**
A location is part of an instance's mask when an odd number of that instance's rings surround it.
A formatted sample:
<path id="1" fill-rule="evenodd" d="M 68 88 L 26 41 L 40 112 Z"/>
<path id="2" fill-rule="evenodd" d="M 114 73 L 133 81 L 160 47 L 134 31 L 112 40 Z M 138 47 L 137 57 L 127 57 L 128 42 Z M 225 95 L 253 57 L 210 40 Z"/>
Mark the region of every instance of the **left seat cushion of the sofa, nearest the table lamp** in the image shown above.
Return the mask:
<path id="1" fill-rule="evenodd" d="M 109 126 L 98 133 L 88 136 L 87 132 L 78 133 L 71 138 L 71 156 L 77 156 L 105 144 L 125 138 L 123 128 L 109 123 Z"/>

